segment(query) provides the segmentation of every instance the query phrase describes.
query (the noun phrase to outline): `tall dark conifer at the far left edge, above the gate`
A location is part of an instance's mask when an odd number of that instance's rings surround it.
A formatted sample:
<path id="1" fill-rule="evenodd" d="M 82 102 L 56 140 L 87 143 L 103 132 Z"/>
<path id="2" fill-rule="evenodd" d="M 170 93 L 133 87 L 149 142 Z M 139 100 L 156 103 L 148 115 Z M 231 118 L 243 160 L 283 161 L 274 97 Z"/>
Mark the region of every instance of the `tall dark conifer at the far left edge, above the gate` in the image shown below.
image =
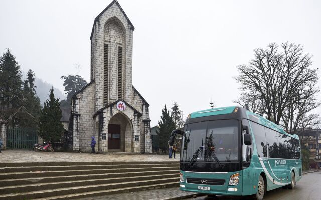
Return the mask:
<path id="1" fill-rule="evenodd" d="M 0 57 L 0 112 L 8 117 L 20 106 L 21 69 L 10 50 Z"/>

